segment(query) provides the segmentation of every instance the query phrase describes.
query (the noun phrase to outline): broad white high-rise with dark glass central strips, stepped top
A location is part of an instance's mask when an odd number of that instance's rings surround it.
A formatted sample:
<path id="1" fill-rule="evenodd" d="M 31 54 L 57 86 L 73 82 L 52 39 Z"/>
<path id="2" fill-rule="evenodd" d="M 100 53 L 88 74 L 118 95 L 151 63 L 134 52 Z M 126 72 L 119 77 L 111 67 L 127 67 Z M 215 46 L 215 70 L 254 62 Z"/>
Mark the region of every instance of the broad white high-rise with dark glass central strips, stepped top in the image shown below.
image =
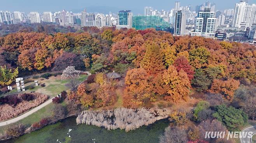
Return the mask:
<path id="1" fill-rule="evenodd" d="M 215 12 L 211 12 L 209 8 L 205 8 L 199 12 L 196 18 L 195 32 L 191 32 L 191 36 L 202 36 L 214 38 L 217 30 L 217 18 Z"/>

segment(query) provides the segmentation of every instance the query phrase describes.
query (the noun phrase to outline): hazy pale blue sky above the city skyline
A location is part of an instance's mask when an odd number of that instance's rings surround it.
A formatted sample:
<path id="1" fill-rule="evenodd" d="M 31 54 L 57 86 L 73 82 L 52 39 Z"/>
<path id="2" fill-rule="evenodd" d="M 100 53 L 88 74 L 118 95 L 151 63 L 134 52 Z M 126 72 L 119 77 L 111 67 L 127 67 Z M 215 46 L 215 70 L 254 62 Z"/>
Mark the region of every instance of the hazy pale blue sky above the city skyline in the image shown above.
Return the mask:
<path id="1" fill-rule="evenodd" d="M 107 14 L 110 11 L 117 13 L 119 10 L 132 10 L 134 15 L 143 14 L 144 7 L 153 7 L 157 10 L 170 10 L 174 8 L 177 0 L 0 0 L 0 10 L 29 12 L 56 12 L 65 9 L 74 13 L 81 12 L 84 8 L 88 12 L 100 12 Z M 178 0 L 181 6 L 196 5 L 206 0 Z M 234 9 L 235 3 L 240 0 L 209 0 L 216 3 L 216 10 Z M 249 0 L 249 3 L 256 3 L 256 0 Z"/>

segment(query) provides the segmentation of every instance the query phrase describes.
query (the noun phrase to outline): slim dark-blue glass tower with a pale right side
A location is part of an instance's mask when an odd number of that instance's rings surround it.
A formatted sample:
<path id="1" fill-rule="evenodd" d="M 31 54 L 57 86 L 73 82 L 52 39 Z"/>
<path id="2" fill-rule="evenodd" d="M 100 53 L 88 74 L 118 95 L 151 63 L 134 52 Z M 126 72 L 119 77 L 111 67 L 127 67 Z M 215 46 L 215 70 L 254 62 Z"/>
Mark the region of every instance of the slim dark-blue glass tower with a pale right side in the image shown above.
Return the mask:
<path id="1" fill-rule="evenodd" d="M 186 14 L 182 10 L 175 13 L 174 35 L 184 35 L 186 32 Z"/>

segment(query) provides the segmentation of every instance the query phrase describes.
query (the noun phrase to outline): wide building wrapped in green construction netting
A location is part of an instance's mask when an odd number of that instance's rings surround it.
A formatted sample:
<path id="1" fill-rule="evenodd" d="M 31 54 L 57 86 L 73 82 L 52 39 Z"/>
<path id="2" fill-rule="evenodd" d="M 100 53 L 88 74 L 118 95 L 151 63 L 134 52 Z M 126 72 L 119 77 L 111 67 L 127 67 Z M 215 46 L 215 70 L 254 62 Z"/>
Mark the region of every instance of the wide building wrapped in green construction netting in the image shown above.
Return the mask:
<path id="1" fill-rule="evenodd" d="M 132 27 L 136 30 L 154 28 L 162 31 L 169 31 L 170 24 L 160 16 L 133 16 Z"/>

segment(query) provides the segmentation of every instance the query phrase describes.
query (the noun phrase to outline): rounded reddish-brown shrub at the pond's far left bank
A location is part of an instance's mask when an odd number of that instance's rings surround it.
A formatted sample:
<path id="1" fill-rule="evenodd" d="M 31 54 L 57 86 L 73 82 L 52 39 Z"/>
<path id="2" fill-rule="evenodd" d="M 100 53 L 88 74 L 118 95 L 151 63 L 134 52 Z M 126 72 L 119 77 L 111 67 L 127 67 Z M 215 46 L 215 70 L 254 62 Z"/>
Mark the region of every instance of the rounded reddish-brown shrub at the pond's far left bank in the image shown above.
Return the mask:
<path id="1" fill-rule="evenodd" d="M 13 126 L 7 126 L 5 129 L 6 134 L 13 137 L 18 137 L 24 134 L 25 126 L 23 124 L 16 124 Z"/>

